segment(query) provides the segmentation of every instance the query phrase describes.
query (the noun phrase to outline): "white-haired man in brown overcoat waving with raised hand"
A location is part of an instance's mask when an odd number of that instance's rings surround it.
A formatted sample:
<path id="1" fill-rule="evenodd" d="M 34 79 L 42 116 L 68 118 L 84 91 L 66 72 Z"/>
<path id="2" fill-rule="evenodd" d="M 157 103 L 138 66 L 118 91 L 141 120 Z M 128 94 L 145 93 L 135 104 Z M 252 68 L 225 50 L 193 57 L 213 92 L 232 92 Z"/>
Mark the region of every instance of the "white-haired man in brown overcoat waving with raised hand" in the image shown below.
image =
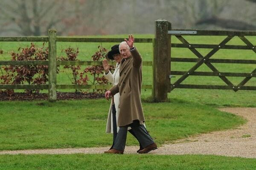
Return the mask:
<path id="1" fill-rule="evenodd" d="M 114 94 L 120 94 L 119 117 L 117 126 L 119 131 L 114 142 L 113 149 L 105 153 L 122 154 L 125 149 L 127 129 L 131 127 L 137 136 L 143 150 L 139 153 L 148 153 L 157 149 L 157 145 L 143 126 L 145 122 L 144 113 L 140 100 L 142 85 L 142 58 L 133 45 L 134 37 L 129 35 L 129 40 L 119 44 L 119 51 L 122 55 L 119 71 L 119 83 L 105 93 L 108 99 Z"/>

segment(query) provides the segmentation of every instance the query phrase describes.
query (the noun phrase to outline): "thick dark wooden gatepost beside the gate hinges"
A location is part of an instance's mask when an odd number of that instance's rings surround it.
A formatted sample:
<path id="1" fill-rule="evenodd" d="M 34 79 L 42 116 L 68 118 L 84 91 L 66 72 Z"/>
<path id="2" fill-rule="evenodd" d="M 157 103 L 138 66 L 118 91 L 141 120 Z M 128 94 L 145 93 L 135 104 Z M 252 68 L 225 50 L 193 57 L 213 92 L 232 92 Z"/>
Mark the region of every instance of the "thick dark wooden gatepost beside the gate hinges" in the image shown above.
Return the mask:
<path id="1" fill-rule="evenodd" d="M 154 102 L 166 102 L 170 89 L 171 36 L 168 30 L 171 23 L 167 20 L 155 21 L 155 40 L 153 41 L 153 89 Z"/>

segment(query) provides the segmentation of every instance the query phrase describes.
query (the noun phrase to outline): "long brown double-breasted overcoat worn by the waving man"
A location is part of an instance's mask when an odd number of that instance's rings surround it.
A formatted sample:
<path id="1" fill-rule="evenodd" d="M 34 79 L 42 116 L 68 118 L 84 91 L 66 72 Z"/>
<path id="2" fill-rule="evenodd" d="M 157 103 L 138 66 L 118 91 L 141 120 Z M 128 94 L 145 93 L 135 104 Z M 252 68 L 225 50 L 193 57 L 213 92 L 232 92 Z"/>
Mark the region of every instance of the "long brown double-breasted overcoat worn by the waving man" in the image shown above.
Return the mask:
<path id="1" fill-rule="evenodd" d="M 140 124 L 145 122 L 140 100 L 142 58 L 137 49 L 130 51 L 131 56 L 120 63 L 118 85 L 110 89 L 112 95 L 120 94 L 117 126 L 129 125 L 134 120 L 139 120 Z"/>

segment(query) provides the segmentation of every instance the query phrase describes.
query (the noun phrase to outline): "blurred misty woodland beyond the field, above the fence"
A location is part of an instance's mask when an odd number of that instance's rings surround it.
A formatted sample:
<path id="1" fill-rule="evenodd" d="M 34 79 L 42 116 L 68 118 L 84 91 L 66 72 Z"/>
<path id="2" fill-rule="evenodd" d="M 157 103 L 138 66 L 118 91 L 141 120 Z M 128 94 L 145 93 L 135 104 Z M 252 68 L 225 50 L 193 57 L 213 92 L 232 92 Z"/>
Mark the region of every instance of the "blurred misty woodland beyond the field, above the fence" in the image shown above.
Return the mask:
<path id="1" fill-rule="evenodd" d="M 1 0 L 0 36 L 154 34 L 172 28 L 256 30 L 256 0 Z"/>

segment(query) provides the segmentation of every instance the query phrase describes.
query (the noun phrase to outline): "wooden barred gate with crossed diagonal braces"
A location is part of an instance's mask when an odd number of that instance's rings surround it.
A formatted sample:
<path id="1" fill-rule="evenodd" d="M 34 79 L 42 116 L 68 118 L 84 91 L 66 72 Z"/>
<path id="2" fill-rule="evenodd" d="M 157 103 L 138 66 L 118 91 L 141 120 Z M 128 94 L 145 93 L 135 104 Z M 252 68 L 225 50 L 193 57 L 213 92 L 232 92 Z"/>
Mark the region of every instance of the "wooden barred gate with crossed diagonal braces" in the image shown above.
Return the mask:
<path id="1" fill-rule="evenodd" d="M 228 64 L 256 64 L 256 59 L 210 59 L 220 49 L 239 49 L 239 50 L 252 50 L 256 53 L 256 47 L 253 45 L 247 37 L 244 36 L 256 36 L 256 31 L 207 31 L 207 30 L 169 30 L 168 33 L 177 37 L 180 40 L 179 43 L 173 43 L 172 48 L 188 48 L 192 54 L 195 54 L 198 58 L 183 58 L 172 57 L 172 62 L 196 62 L 196 64 L 188 71 L 171 71 L 170 75 L 181 75 L 179 79 L 170 85 L 170 91 L 175 88 L 198 88 L 198 89 L 224 89 L 224 90 L 256 90 L 256 86 L 244 86 L 252 77 L 256 77 L 256 67 L 250 73 L 231 73 L 221 72 L 212 65 L 212 63 L 228 63 Z M 223 36 L 223 40 L 219 44 L 190 44 L 184 37 L 189 36 Z M 245 45 L 226 45 L 233 37 L 239 37 Z M 211 48 L 212 50 L 202 55 L 196 48 Z M 206 65 L 212 72 L 195 71 L 201 65 Z M 181 84 L 189 76 L 215 76 L 223 80 L 227 85 L 191 85 Z M 172 76 L 171 76 L 172 77 Z M 238 84 L 234 85 L 227 77 L 244 77 L 244 79 Z M 169 80 L 168 80 L 169 81 Z"/>

